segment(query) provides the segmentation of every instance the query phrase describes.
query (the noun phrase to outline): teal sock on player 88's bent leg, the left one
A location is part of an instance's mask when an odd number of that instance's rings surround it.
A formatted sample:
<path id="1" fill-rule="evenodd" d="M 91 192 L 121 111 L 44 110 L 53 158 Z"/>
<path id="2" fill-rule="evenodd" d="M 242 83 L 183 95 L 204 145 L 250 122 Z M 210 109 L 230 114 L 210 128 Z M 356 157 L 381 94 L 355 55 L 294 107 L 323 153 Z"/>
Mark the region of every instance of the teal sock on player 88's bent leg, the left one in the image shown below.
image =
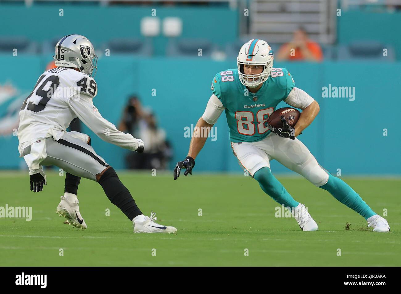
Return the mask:
<path id="1" fill-rule="evenodd" d="M 297 207 L 299 202 L 287 192 L 286 188 L 273 176 L 270 168 L 264 167 L 255 172 L 253 178 L 259 182 L 263 192 L 284 207 Z"/>

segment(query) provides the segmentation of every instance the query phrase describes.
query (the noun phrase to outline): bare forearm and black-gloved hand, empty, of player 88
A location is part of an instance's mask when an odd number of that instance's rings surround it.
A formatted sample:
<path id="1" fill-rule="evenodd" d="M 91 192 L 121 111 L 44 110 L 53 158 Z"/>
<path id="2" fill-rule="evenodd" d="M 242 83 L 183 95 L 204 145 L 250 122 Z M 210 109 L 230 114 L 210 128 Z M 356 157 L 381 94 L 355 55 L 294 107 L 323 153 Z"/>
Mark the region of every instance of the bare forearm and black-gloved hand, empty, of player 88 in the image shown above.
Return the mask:
<path id="1" fill-rule="evenodd" d="M 209 136 L 209 132 L 212 127 L 213 124 L 208 124 L 202 117 L 199 118 L 189 144 L 188 156 L 186 156 L 184 160 L 177 162 L 177 165 L 174 168 L 174 180 L 180 176 L 182 168 L 185 168 L 184 176 L 187 174 L 192 174 L 192 168 L 195 166 L 195 158 L 205 145 L 207 136 Z"/>

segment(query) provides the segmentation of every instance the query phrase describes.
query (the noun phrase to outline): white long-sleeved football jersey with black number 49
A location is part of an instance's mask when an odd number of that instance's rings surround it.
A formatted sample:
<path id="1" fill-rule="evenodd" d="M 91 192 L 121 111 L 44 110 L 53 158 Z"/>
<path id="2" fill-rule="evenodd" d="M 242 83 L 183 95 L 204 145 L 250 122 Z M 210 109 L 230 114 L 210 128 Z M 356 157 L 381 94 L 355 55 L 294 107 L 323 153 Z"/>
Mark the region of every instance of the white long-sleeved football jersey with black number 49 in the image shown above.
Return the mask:
<path id="1" fill-rule="evenodd" d="M 93 105 L 92 99 L 96 94 L 97 84 L 87 74 L 63 67 L 44 72 L 19 113 L 17 134 L 20 154 L 23 148 L 37 140 L 49 137 L 59 140 L 75 118 L 79 118 L 103 141 L 136 150 L 139 146 L 136 138 L 117 130 Z M 34 160 L 27 162 L 28 166 L 37 168 L 42 157 L 35 156 Z"/>

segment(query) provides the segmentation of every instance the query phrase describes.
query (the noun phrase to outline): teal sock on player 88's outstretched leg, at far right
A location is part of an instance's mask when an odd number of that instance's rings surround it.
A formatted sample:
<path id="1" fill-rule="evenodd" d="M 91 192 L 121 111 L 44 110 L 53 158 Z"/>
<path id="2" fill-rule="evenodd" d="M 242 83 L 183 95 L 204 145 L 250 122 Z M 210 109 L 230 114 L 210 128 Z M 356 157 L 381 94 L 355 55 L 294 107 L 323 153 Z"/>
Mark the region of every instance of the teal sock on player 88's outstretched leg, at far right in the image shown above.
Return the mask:
<path id="1" fill-rule="evenodd" d="M 362 198 L 360 198 L 358 193 L 352 190 L 352 188 L 340 178 L 329 174 L 327 183 L 319 188 L 330 192 L 334 198 L 336 198 L 342 204 L 345 204 L 347 207 L 358 212 L 358 214 L 363 216 L 365 219 L 377 214 L 369 207 L 368 204 L 366 204 L 365 201 L 362 200 Z"/>

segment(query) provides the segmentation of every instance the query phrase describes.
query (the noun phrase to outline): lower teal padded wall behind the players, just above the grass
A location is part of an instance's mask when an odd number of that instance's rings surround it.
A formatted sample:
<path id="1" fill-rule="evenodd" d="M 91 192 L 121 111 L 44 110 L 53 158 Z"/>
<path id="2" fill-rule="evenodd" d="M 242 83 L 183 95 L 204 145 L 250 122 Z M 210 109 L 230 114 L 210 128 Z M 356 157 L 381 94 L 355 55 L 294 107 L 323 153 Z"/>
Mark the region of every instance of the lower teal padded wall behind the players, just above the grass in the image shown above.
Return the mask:
<path id="1" fill-rule="evenodd" d="M 14 99 L 2 102 L 2 119 L 12 109 L 12 103 L 19 110 L 43 72 L 43 64 L 47 60 L 45 57 L 0 56 L 0 64 L 7 69 L 0 73 L 0 84 L 12 84 L 19 93 Z M 202 57 L 103 57 L 98 62 L 98 94 L 94 104 L 107 120 L 118 124 L 127 96 L 138 93 L 142 103 L 154 110 L 159 125 L 166 130 L 172 142 L 172 168 L 175 162 L 186 156 L 190 138 L 184 138 L 184 127 L 196 124 L 203 114 L 211 95 L 213 76 L 235 65 L 234 60 L 215 62 Z M 320 104 L 321 110 L 316 120 L 299 139 L 324 168 L 332 173 L 341 168 L 342 174 L 400 174 L 398 110 L 401 109 L 401 103 L 396 95 L 397 83 L 401 80 L 400 66 L 399 62 L 275 63 L 275 67 L 288 68 L 296 86 L 304 89 Z M 322 98 L 322 87 L 329 84 L 355 87 L 355 100 Z M 156 89 L 156 96 L 152 96 L 152 89 Z M 279 106 L 285 106 L 282 103 Z M 225 114 L 222 114 L 216 126 L 217 140 L 208 139 L 196 160 L 196 170 L 241 172 L 229 146 Z M 388 136 L 383 136 L 384 128 L 387 128 Z M 86 127 L 84 131 L 91 136 L 92 146 L 99 155 L 115 168 L 124 168 L 127 150 L 102 142 Z M 10 132 L 0 136 L 0 144 L 1 168 L 24 166 L 22 159 L 18 158 L 18 140 L 15 136 Z M 288 172 L 275 163 L 272 169 L 279 173 Z"/>

